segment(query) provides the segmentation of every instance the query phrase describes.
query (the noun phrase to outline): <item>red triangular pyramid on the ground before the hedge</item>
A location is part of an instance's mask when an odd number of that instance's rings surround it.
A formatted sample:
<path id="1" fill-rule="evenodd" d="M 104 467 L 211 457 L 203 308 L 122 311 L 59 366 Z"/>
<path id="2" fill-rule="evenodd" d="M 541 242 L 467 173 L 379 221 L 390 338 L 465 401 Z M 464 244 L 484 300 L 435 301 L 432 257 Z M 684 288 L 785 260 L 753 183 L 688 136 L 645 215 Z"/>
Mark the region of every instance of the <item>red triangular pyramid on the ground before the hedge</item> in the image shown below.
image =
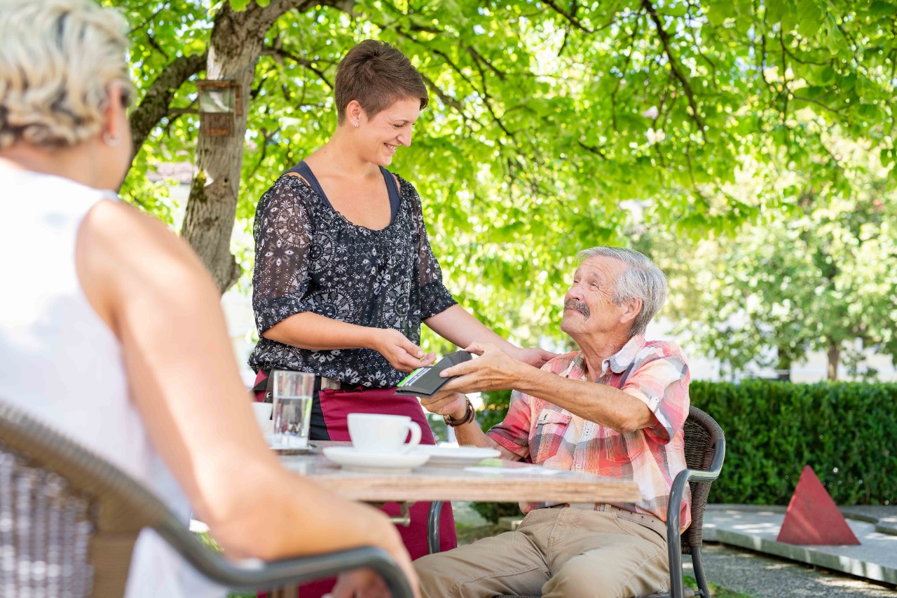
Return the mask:
<path id="1" fill-rule="evenodd" d="M 859 543 L 844 515 L 809 465 L 804 467 L 797 480 L 797 488 L 788 503 L 785 521 L 776 541 L 823 546 Z"/>

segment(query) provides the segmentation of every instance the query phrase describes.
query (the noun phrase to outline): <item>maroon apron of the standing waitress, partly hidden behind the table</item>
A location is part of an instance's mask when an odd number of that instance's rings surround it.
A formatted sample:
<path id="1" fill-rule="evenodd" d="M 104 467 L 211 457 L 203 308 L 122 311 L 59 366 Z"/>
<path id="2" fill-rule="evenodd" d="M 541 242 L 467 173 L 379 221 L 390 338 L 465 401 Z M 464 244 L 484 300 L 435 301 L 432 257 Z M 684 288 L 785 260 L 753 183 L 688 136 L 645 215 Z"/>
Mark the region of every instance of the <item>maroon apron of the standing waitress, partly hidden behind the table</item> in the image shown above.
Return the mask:
<path id="1" fill-rule="evenodd" d="M 266 377 L 265 372 L 259 371 L 256 377 L 257 386 Z M 264 397 L 265 391 L 257 391 L 256 400 L 263 400 Z M 312 398 L 312 410 L 312 427 L 314 428 L 310 435 L 312 440 L 349 441 L 351 438 L 346 416 L 350 413 L 387 413 L 412 418 L 421 427 L 421 444 L 436 444 L 436 438 L 433 437 L 421 403 L 416 397 L 397 395 L 395 387 L 365 390 L 361 390 L 359 387 L 359 390 L 351 391 L 335 391 L 333 389 L 315 391 L 315 396 Z M 321 429 L 322 424 L 326 430 Z M 387 503 L 382 507 L 382 511 L 389 515 L 398 515 L 399 505 L 398 503 Z M 430 503 L 414 503 L 409 509 L 409 513 L 411 514 L 411 524 L 398 525 L 396 529 L 402 536 L 402 541 L 411 558 L 420 558 L 430 553 L 427 547 L 427 519 L 430 516 Z M 442 506 L 440 520 L 440 551 L 444 552 L 455 547 L 457 547 L 455 518 L 452 516 L 451 504 L 445 503 Z M 300 594 L 302 598 L 318 598 L 327 594 L 333 588 L 334 583 L 333 579 L 328 579 L 302 585 Z"/>

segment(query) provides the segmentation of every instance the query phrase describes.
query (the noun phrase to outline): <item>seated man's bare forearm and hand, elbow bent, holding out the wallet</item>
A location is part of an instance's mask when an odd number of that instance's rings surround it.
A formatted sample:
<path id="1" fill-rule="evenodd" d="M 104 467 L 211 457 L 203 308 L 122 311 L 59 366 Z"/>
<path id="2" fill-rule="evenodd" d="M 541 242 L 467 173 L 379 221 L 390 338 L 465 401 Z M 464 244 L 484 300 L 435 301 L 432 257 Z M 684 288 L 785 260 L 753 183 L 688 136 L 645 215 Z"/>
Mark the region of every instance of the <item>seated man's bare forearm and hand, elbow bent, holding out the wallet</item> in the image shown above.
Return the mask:
<path id="1" fill-rule="evenodd" d="M 475 344 L 467 350 L 480 357 L 454 365 L 441 375 L 459 376 L 449 381 L 445 391 L 498 391 L 513 388 L 552 402 L 580 418 L 628 434 L 657 423 L 641 400 L 605 384 L 569 380 L 557 374 L 527 367 L 504 354 L 498 347 Z M 454 406 L 452 417 L 463 417 Z"/>

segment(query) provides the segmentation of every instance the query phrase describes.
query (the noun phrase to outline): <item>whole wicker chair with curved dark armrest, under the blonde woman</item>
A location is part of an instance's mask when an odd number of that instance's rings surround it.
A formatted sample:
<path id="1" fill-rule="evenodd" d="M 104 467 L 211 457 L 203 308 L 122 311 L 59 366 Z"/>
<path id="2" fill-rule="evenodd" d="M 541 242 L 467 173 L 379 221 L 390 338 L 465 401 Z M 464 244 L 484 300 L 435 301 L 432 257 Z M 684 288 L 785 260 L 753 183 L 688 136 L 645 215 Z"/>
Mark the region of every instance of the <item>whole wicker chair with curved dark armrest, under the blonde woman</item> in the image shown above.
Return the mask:
<path id="1" fill-rule="evenodd" d="M 145 527 L 232 590 L 282 588 L 370 567 L 393 596 L 413 595 L 395 560 L 373 547 L 231 562 L 197 540 L 149 488 L 0 401 L 0 596 L 120 598 Z"/>

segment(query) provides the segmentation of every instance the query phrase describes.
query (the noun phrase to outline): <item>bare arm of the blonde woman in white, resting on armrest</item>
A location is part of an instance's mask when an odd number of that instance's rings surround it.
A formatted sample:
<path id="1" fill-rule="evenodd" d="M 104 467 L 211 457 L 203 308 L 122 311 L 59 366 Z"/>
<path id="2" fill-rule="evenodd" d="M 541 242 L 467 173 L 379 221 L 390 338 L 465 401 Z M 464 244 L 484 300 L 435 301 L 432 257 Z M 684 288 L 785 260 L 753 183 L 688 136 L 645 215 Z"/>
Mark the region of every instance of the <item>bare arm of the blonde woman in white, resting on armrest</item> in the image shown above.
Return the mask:
<path id="1" fill-rule="evenodd" d="M 374 545 L 415 579 L 385 515 L 291 474 L 267 449 L 218 291 L 186 243 L 131 207 L 102 202 L 79 231 L 76 264 L 121 341 L 153 446 L 226 551 L 272 559 Z"/>

